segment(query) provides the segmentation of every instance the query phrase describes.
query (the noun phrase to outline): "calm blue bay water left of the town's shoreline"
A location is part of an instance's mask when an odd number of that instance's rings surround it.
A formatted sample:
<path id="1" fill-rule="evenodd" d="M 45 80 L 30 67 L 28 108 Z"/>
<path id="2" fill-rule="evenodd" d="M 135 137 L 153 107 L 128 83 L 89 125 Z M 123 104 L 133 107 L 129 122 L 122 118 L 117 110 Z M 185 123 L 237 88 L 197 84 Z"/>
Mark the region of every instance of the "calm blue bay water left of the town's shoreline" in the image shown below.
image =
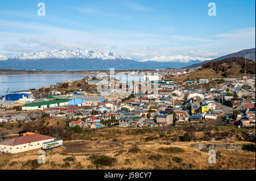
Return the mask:
<path id="1" fill-rule="evenodd" d="M 77 81 L 89 74 L 13 74 L 0 75 L 0 96 L 5 95 L 7 89 L 11 91 L 39 89 L 40 87 L 56 85 L 65 80 Z M 95 75 L 91 75 L 95 76 Z"/>

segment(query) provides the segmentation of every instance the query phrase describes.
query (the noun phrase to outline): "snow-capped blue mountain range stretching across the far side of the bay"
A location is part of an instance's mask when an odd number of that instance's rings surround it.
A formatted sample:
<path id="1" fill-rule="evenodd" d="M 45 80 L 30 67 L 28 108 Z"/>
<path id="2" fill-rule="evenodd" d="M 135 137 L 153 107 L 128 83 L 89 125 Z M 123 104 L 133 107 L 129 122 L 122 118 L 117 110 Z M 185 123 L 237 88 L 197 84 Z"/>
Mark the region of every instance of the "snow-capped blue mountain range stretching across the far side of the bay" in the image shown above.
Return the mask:
<path id="1" fill-rule="evenodd" d="M 253 49 L 250 49 L 253 52 Z M 245 51 L 245 50 L 243 50 Z M 243 52 L 241 51 L 241 52 Z M 246 50 L 246 52 L 248 52 Z M 240 53 L 253 56 L 253 53 Z M 229 56 L 229 55 L 228 55 Z M 225 57 L 225 56 L 224 56 Z M 220 57 L 221 58 L 221 57 Z M 196 67 L 202 63 L 217 60 L 190 56 L 156 56 L 144 60 L 133 60 L 113 52 L 94 52 L 92 50 L 51 50 L 24 53 L 15 56 L 0 55 L 0 69 L 14 70 L 116 70 L 127 69 L 167 69 Z M 222 58 L 223 59 L 223 58 Z M 253 59 L 253 58 L 250 58 Z M 220 60 L 220 59 L 219 59 Z M 255 60 L 255 48 L 254 48 Z"/>

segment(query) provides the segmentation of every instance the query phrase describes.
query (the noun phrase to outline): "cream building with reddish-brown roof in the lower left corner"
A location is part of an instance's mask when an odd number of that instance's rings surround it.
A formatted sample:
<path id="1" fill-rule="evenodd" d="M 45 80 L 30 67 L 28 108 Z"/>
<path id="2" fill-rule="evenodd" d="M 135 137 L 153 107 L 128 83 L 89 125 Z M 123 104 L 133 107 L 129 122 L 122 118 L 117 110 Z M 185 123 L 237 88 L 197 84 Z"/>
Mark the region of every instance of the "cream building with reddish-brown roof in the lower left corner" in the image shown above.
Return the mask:
<path id="1" fill-rule="evenodd" d="M 53 140 L 55 140 L 55 138 L 42 134 L 20 136 L 0 142 L 0 151 L 1 153 L 20 153 L 23 151 L 42 148 L 44 142 Z"/>

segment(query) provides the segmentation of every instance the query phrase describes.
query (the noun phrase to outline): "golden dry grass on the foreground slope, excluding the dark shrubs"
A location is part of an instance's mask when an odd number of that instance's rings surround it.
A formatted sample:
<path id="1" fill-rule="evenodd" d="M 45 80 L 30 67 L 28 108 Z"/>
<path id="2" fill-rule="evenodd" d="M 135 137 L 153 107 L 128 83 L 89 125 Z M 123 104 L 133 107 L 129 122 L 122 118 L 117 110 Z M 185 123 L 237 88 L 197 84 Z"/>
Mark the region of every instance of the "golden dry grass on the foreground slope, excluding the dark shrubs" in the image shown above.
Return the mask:
<path id="1" fill-rule="evenodd" d="M 119 132 L 122 130 L 122 132 Z M 113 128 L 108 131 L 99 130 L 98 140 L 64 141 L 64 146 L 46 151 L 46 164 L 27 164 L 29 160 L 38 158 L 38 150 L 31 150 L 18 154 L 0 155 L 1 169 L 253 169 L 255 168 L 255 152 L 216 150 L 216 164 L 209 164 L 207 152 L 191 148 L 196 142 L 207 144 L 248 144 L 244 141 L 171 141 L 174 134 L 182 135 L 183 131 L 167 134 L 143 133 L 132 134 L 133 130 Z M 96 133 L 95 133 L 96 134 Z M 202 133 L 198 132 L 197 136 Z M 97 136 L 97 134 L 95 135 Z M 145 141 L 148 136 L 156 139 Z M 108 137 L 108 139 L 106 139 Z M 92 135 L 92 138 L 95 138 Z M 114 141 L 115 138 L 115 141 Z M 250 142 L 251 144 L 251 142 Z M 140 151 L 129 151 L 137 146 Z M 176 148 L 176 149 L 170 149 Z M 172 151 L 163 151 L 172 150 Z M 183 151 L 176 151 L 183 150 Z M 90 155 L 106 155 L 114 158 L 111 165 L 95 165 Z M 67 157 L 75 158 L 75 162 Z M 65 160 L 64 160 L 65 159 Z M 18 161 L 18 162 L 17 162 Z"/>

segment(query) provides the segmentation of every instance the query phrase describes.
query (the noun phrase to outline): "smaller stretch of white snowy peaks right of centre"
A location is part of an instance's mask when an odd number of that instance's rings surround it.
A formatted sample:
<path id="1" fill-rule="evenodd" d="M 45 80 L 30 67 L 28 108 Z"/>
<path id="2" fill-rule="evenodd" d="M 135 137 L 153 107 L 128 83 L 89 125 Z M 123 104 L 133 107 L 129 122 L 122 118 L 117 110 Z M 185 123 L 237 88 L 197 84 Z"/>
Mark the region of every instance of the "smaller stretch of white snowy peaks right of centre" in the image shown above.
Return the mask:
<path id="1" fill-rule="evenodd" d="M 207 61 L 212 60 L 212 58 L 205 58 L 205 57 L 190 57 L 190 56 L 182 56 L 180 54 L 177 54 L 176 56 L 156 56 L 150 59 L 144 59 L 142 62 L 147 61 L 156 61 L 156 62 L 183 62 L 187 63 L 190 61 Z"/>

